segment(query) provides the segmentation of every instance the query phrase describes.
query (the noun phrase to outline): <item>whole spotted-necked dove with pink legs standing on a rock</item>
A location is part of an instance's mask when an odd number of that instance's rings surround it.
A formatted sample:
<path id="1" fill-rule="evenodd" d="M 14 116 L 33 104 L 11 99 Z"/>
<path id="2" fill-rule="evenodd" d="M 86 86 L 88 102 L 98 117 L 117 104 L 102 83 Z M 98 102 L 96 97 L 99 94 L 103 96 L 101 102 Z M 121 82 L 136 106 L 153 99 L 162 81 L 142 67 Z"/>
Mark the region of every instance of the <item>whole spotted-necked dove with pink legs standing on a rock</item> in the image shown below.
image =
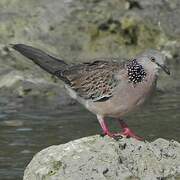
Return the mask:
<path id="1" fill-rule="evenodd" d="M 155 90 L 160 70 L 170 75 L 166 57 L 150 49 L 134 58 L 95 59 L 67 64 L 38 48 L 25 44 L 11 47 L 64 82 L 68 94 L 97 116 L 103 135 L 143 140 L 123 120 L 124 115 L 142 105 Z M 118 120 L 122 131 L 111 132 L 106 118 Z"/>

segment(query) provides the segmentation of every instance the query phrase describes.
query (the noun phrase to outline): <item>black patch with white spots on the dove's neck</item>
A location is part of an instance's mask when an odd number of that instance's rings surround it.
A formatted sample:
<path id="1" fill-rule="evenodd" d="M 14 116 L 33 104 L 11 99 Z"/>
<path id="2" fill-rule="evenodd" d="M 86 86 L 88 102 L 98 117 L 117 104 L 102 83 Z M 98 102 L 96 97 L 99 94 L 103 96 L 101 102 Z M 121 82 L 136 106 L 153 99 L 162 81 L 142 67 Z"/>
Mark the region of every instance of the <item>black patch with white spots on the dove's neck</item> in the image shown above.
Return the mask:
<path id="1" fill-rule="evenodd" d="M 146 77 L 144 68 L 136 61 L 136 59 L 133 59 L 129 64 L 127 64 L 127 70 L 129 82 L 133 84 L 142 82 Z"/>

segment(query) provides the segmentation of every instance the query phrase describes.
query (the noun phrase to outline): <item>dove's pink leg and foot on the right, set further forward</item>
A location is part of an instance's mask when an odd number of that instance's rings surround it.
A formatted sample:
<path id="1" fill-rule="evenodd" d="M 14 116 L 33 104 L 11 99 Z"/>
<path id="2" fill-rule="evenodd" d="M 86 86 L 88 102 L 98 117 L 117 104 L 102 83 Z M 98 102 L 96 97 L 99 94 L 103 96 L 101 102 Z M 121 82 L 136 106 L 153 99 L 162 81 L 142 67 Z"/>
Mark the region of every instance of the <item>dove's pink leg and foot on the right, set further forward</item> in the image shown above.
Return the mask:
<path id="1" fill-rule="evenodd" d="M 127 138 L 132 137 L 132 138 L 135 138 L 135 139 L 140 140 L 140 141 L 143 140 L 143 138 L 137 136 L 137 135 L 128 127 L 128 125 L 127 125 L 123 120 L 119 119 L 119 123 L 120 123 L 120 125 L 121 125 L 121 127 L 122 127 L 122 129 L 123 129 L 122 133 L 120 133 L 122 136 L 125 136 L 125 137 L 127 137 Z"/>

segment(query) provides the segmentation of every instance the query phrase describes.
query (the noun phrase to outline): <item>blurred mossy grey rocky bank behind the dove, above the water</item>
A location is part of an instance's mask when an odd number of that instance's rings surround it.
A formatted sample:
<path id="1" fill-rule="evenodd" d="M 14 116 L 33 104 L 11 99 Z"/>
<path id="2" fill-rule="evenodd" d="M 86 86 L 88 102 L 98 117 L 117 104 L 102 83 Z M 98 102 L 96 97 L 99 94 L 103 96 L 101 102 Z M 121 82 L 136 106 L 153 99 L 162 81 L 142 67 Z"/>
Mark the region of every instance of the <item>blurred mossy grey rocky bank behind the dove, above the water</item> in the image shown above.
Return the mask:
<path id="1" fill-rule="evenodd" d="M 71 63 L 130 58 L 147 48 L 178 61 L 179 7 L 178 0 L 1 0 L 1 94 L 73 103 L 59 90 L 60 81 L 11 51 L 10 43 L 33 45 Z"/>

